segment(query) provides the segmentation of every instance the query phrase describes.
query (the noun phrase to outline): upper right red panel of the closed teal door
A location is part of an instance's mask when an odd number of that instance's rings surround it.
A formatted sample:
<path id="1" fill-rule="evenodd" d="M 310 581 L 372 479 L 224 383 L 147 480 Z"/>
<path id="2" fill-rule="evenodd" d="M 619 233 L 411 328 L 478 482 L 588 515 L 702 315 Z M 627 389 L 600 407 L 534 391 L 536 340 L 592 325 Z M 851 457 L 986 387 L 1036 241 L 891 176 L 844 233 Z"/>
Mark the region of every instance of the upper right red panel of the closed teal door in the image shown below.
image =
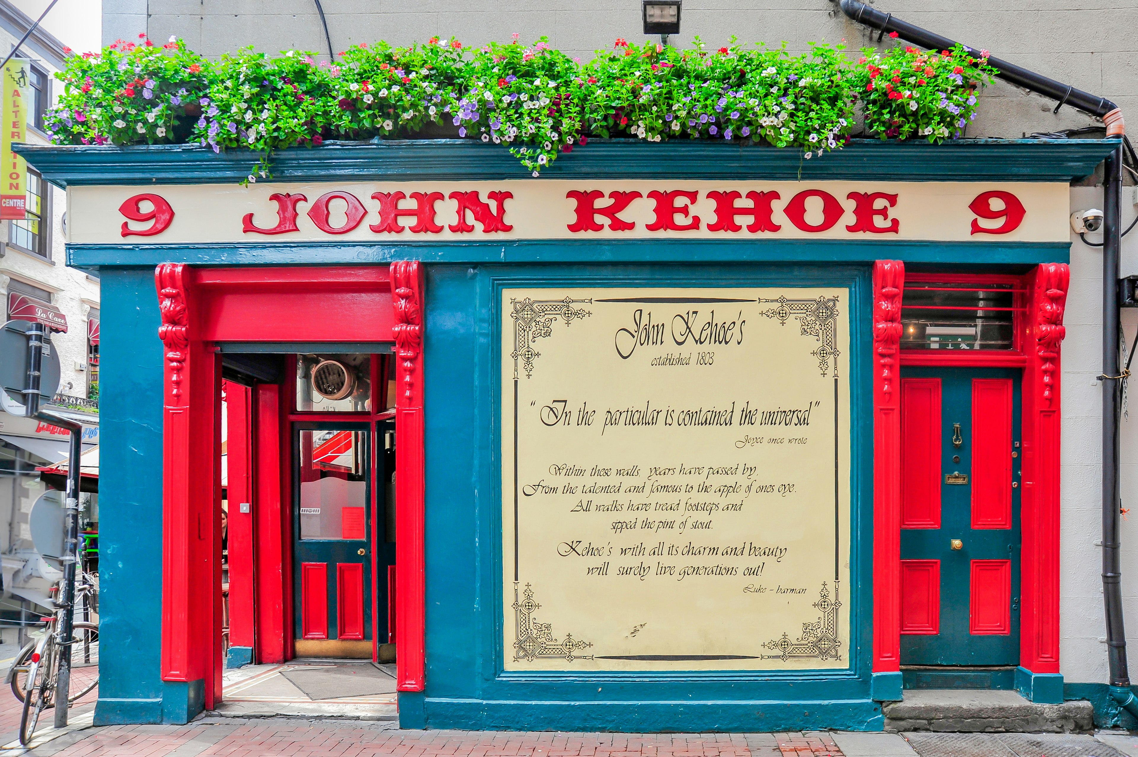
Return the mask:
<path id="1" fill-rule="evenodd" d="M 972 527 L 1012 527 L 1012 380 L 972 380 Z"/>

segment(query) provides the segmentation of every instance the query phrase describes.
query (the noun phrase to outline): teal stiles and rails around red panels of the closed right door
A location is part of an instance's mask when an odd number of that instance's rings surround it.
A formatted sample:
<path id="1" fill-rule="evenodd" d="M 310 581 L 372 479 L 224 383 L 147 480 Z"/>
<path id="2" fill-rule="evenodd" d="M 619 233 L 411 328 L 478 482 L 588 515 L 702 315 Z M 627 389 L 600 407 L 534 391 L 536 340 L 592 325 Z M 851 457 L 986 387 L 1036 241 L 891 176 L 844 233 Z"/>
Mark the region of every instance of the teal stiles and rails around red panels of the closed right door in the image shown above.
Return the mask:
<path id="1" fill-rule="evenodd" d="M 902 382 L 906 378 L 931 377 L 940 378 L 941 385 L 941 459 L 934 467 L 941 482 L 940 527 L 901 529 L 901 560 L 940 561 L 940 632 L 906 634 L 902 629 L 901 665 L 993 666 L 1017 665 L 1020 662 L 1020 489 L 1012 490 L 1011 529 L 972 527 L 976 474 L 976 461 L 972 457 L 975 443 L 973 380 L 1011 381 L 1012 440 L 1017 443 L 1022 440 L 1020 375 L 1020 371 L 1012 368 L 901 368 Z M 901 423 L 905 423 L 904 418 Z M 953 441 L 954 424 L 957 423 L 960 424 L 959 447 Z M 1014 449 L 1017 456 L 1012 461 L 1012 481 L 1017 483 L 1021 481 L 1022 457 L 1019 452 L 1022 449 Z M 1007 450 L 1008 455 L 1012 452 L 1013 449 Z M 966 475 L 968 483 L 950 484 L 946 477 L 948 474 Z M 904 508 L 902 505 L 902 513 Z M 963 542 L 960 549 L 951 548 L 954 539 Z M 1009 633 L 975 634 L 970 631 L 972 560 L 1011 560 Z"/>

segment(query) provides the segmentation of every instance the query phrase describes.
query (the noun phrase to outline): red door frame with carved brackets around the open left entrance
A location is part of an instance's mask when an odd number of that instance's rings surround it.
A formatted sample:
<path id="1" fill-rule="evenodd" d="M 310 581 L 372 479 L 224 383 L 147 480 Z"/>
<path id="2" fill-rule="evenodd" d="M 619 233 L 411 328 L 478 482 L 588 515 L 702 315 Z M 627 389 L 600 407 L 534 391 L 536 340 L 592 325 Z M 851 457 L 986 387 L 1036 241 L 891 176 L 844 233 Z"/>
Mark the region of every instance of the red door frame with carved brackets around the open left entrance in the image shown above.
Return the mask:
<path id="1" fill-rule="evenodd" d="M 162 679 L 204 681 L 207 708 L 221 697 L 222 668 L 220 341 L 395 342 L 397 676 L 401 691 L 423 688 L 422 273 L 417 261 L 390 268 L 162 264 L 155 272 L 165 346 Z M 291 656 L 284 401 L 267 384 L 253 398 L 262 434 L 254 499 L 277 505 L 254 522 L 262 662 Z"/>

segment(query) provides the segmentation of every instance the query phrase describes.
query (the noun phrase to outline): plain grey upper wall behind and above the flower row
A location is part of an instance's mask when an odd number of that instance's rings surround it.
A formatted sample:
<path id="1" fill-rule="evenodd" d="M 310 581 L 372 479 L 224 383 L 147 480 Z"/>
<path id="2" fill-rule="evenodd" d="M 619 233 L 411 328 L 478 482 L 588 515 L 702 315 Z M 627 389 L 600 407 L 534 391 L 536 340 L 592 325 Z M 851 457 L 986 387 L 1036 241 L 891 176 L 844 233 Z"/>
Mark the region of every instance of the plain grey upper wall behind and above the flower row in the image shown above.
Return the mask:
<path id="1" fill-rule="evenodd" d="M 518 32 L 522 41 L 547 35 L 554 47 L 585 59 L 618 36 L 643 36 L 640 0 L 322 0 L 322 5 L 337 51 L 360 42 L 407 44 L 434 35 L 484 44 L 509 41 Z M 1102 94 L 1138 118 L 1135 0 L 876 0 L 875 7 Z M 147 32 L 163 41 L 176 34 L 212 57 L 247 44 L 266 52 L 299 48 L 328 53 L 314 0 L 104 0 L 102 8 L 105 42 Z M 745 42 L 785 41 L 793 51 L 807 50 L 811 41 L 846 40 L 856 49 L 876 40 L 831 0 L 685 0 L 682 34 L 673 39 L 687 45 L 698 35 L 719 47 L 733 34 Z M 984 97 L 989 102 L 968 136 L 1017 138 L 1091 123 L 1070 108 L 1053 116 L 1054 102 L 1004 83 L 989 88 Z"/>

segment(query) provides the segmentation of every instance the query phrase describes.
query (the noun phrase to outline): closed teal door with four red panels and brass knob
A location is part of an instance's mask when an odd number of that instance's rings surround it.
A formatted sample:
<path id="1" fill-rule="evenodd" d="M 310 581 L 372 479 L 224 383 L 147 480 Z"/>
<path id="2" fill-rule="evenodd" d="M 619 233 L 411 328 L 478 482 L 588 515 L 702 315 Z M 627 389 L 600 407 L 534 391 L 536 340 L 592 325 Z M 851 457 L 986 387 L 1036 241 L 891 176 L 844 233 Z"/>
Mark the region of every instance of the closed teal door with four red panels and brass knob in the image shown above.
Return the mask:
<path id="1" fill-rule="evenodd" d="M 901 665 L 1017 665 L 1020 371 L 902 368 L 900 402 Z"/>

